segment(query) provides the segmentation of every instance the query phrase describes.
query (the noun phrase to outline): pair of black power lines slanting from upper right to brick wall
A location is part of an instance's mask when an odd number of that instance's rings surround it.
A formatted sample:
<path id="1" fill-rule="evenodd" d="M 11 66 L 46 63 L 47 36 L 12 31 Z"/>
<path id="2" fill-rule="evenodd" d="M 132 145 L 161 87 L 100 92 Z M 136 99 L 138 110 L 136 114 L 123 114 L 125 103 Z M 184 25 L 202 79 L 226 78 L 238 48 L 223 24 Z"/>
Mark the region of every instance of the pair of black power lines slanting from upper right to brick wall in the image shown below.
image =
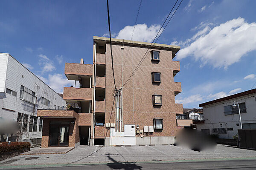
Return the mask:
<path id="1" fill-rule="evenodd" d="M 178 0 L 177 0 L 177 1 L 178 1 Z M 176 1 L 176 3 L 177 3 L 177 1 Z M 182 1 L 183 1 L 183 0 L 180 1 L 180 4 L 182 3 Z M 172 7 L 172 10 L 173 10 L 174 7 L 176 6 L 176 3 L 175 3 L 175 5 Z M 177 8 L 175 9 L 175 12 L 176 12 L 177 9 L 179 8 L 180 4 L 179 4 L 179 5 L 177 6 Z M 172 13 L 172 10 L 169 12 L 168 16 L 166 17 L 166 20 L 168 19 L 169 15 Z M 172 17 L 173 17 L 173 15 L 175 14 L 175 12 L 172 14 Z M 169 22 L 170 22 L 170 20 L 172 19 L 172 17 L 169 19 L 169 21 L 168 21 L 168 23 L 166 24 L 166 26 L 169 24 Z M 159 31 L 157 32 L 157 35 L 159 34 L 160 30 L 163 28 L 163 25 L 165 24 L 166 20 L 164 21 L 164 23 L 162 24 L 161 28 L 160 28 Z M 165 30 L 166 26 L 164 27 L 163 31 Z M 163 31 L 161 32 L 160 35 L 162 35 Z M 154 37 L 154 40 L 156 39 L 157 35 Z M 158 38 L 160 37 L 160 35 L 157 37 L 157 40 L 158 40 Z M 150 50 L 153 48 L 152 44 L 153 44 L 153 43 L 155 44 L 155 43 L 157 42 L 157 40 L 156 40 L 155 42 L 154 42 L 154 40 L 153 40 L 152 43 L 150 44 L 151 48 L 150 48 L 150 49 L 148 48 L 148 49 L 149 49 L 149 52 L 150 52 Z M 124 84 L 123 86 L 125 86 L 125 85 L 127 84 L 127 82 L 131 79 L 131 77 L 132 77 L 132 76 L 135 74 L 135 72 L 138 70 L 138 68 L 139 68 L 139 66 L 141 65 L 141 63 L 145 60 L 145 56 L 147 56 L 148 53 L 149 53 L 149 52 L 148 52 L 148 49 L 147 49 L 147 51 L 145 52 L 145 54 L 143 55 L 143 58 L 140 60 L 140 62 L 138 63 L 138 65 L 137 65 L 136 68 L 134 69 L 134 71 L 131 73 L 131 75 L 130 75 L 130 77 L 128 78 L 128 80 L 125 81 L 125 84 Z"/>

